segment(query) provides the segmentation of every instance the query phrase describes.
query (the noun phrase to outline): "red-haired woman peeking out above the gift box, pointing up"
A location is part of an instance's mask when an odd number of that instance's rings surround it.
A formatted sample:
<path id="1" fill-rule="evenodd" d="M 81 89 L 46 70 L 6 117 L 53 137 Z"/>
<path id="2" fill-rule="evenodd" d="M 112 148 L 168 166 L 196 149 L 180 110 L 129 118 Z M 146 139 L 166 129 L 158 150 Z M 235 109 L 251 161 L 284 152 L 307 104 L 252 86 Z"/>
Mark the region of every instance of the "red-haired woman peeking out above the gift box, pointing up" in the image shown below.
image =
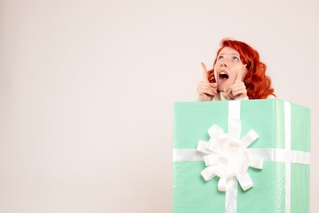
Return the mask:
<path id="1" fill-rule="evenodd" d="M 258 52 L 241 41 L 223 39 L 214 68 L 207 72 L 203 63 L 203 80 L 198 84 L 199 101 L 275 98 L 266 65 Z"/>

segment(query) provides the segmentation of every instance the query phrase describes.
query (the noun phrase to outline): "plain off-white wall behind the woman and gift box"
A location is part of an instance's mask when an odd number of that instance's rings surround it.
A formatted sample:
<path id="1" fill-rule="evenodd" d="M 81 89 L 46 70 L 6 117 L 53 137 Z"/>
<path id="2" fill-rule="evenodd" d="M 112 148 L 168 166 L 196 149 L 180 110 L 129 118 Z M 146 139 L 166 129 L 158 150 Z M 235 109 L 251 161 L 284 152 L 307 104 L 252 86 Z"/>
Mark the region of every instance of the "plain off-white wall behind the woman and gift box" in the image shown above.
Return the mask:
<path id="1" fill-rule="evenodd" d="M 196 2 L 196 3 L 195 3 Z M 311 109 L 317 1 L 0 1 L 0 212 L 171 212 L 173 102 L 219 41 L 251 44 L 278 98 Z"/>

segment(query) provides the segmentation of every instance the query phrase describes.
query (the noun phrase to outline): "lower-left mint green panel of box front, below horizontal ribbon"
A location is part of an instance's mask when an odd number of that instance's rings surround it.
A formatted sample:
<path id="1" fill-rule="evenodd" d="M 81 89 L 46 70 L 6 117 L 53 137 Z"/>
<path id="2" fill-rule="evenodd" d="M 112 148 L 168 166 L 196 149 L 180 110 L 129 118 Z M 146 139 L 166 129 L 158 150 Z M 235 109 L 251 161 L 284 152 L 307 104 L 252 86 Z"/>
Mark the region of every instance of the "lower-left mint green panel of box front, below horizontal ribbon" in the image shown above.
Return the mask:
<path id="1" fill-rule="evenodd" d="M 217 189 L 218 177 L 205 181 L 204 162 L 174 162 L 173 213 L 224 212 L 225 192 Z"/>

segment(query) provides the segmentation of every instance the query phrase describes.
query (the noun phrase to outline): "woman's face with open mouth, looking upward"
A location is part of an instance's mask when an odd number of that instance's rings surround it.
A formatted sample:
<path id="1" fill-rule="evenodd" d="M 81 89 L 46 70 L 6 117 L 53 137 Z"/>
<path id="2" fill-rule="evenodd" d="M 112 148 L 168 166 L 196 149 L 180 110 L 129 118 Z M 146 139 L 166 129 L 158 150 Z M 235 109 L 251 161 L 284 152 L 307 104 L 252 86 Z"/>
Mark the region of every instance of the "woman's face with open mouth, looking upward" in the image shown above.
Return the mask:
<path id="1" fill-rule="evenodd" d="M 244 82 L 248 70 L 242 63 L 239 52 L 231 47 L 224 47 L 219 52 L 214 66 L 214 77 L 219 91 L 223 92 L 233 85 L 241 69 L 243 69 L 242 81 Z"/>

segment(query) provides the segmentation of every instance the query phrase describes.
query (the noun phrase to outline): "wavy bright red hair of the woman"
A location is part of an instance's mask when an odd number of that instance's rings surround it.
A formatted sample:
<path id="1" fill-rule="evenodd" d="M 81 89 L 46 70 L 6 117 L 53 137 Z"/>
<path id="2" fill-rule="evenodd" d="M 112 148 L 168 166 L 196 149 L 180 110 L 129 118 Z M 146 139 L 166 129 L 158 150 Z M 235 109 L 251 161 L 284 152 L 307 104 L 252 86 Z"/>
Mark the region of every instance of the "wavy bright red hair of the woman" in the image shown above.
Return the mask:
<path id="1" fill-rule="evenodd" d="M 249 99 L 265 99 L 269 95 L 274 94 L 274 89 L 271 87 L 271 79 L 269 76 L 265 75 L 266 65 L 259 61 L 258 52 L 253 49 L 248 44 L 235 41 L 230 39 L 223 39 L 220 43 L 221 48 L 217 51 L 217 56 L 219 52 L 226 46 L 237 50 L 240 53 L 240 58 L 243 64 L 247 64 L 246 68 L 248 72 L 245 76 L 245 86 L 247 90 L 247 96 Z M 214 61 L 214 67 L 217 58 Z M 215 83 L 214 68 L 208 71 L 208 81 L 210 83 Z"/>

